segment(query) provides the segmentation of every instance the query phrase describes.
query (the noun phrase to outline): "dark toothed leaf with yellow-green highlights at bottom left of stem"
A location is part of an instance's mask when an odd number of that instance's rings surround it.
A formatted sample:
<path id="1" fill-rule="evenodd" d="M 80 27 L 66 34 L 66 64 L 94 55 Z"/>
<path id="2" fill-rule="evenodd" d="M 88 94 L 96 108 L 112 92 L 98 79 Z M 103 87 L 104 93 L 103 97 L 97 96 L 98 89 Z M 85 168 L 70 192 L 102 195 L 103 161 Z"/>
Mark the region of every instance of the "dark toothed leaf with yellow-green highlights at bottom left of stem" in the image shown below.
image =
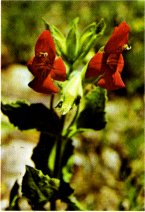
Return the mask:
<path id="1" fill-rule="evenodd" d="M 22 181 L 22 193 L 29 199 L 31 206 L 43 205 L 58 198 L 60 181 L 44 175 L 40 170 L 26 166 L 26 173 Z"/>

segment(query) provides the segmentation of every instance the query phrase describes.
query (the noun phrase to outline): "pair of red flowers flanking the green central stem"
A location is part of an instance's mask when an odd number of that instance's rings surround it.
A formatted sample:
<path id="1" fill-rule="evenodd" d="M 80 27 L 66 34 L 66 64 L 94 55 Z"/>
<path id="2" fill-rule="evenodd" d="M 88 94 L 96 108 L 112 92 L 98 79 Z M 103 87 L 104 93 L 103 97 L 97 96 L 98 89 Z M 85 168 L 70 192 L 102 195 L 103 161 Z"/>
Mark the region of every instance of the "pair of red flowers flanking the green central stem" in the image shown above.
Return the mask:
<path id="1" fill-rule="evenodd" d="M 97 52 L 88 63 L 85 78 L 99 78 L 97 85 L 107 90 L 125 87 L 121 79 L 124 67 L 122 52 L 128 43 L 130 28 L 125 21 L 115 27 L 103 50 Z M 66 80 L 66 68 L 61 57 L 56 58 L 56 49 L 50 31 L 45 30 L 35 45 L 35 57 L 28 62 L 34 75 L 29 86 L 40 93 L 57 93 L 55 80 Z"/>

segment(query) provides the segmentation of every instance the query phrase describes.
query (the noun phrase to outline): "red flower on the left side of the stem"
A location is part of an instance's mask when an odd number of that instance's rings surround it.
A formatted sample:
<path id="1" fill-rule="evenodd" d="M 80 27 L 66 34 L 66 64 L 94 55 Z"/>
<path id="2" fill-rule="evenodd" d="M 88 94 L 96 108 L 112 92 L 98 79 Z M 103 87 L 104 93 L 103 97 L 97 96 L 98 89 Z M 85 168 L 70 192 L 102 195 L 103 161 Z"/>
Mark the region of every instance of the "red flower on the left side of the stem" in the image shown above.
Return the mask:
<path id="1" fill-rule="evenodd" d="M 66 68 L 61 57 L 56 57 L 52 36 L 48 30 L 42 32 L 35 45 L 35 57 L 28 61 L 28 69 L 34 79 L 28 84 L 39 93 L 57 93 L 54 80 L 66 79 Z"/>

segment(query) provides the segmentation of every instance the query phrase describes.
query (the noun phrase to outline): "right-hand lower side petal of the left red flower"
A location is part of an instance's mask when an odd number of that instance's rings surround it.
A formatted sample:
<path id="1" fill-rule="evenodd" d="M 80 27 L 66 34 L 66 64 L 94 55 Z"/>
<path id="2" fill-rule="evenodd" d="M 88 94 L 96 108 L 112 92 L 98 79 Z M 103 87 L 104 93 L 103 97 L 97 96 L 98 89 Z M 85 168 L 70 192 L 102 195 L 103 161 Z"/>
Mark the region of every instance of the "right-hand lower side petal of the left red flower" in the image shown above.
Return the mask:
<path id="1" fill-rule="evenodd" d="M 66 80 L 66 68 L 61 57 L 54 61 L 51 77 L 59 81 Z"/>

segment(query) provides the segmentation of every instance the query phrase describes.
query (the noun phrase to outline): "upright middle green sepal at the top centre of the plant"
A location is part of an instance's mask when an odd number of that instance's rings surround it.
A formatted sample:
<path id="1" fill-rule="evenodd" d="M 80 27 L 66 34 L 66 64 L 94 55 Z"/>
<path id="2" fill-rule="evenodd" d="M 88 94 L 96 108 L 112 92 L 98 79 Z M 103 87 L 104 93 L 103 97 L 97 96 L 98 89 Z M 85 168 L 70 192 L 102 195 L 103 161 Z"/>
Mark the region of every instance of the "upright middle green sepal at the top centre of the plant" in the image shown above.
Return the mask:
<path id="1" fill-rule="evenodd" d="M 73 63 L 75 61 L 78 53 L 78 42 L 79 42 L 78 21 L 79 18 L 75 18 L 72 21 L 70 30 L 66 38 L 67 58 L 68 62 L 70 63 Z"/>

